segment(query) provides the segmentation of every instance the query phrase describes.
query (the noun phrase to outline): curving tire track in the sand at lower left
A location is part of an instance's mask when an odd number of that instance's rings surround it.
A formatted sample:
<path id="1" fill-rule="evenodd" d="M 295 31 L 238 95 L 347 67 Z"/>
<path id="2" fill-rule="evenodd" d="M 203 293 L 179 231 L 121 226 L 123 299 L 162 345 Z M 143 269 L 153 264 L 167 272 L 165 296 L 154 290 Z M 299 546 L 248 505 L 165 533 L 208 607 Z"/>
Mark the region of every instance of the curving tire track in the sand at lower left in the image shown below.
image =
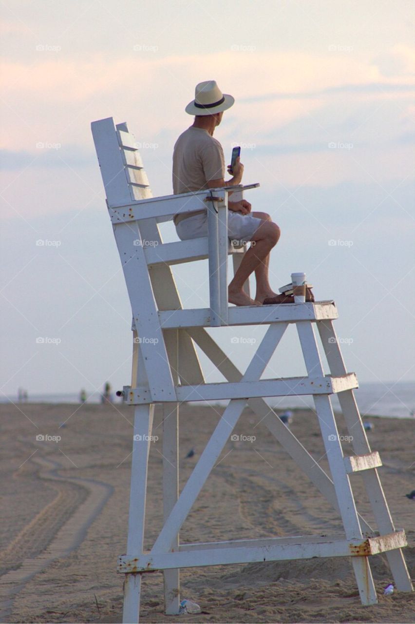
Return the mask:
<path id="1" fill-rule="evenodd" d="M 64 467 L 45 457 L 31 461 L 41 466 L 39 479 L 54 482 L 58 495 L 0 553 L 1 567 L 9 568 L 0 577 L 2 622 L 10 621 L 15 598 L 34 575 L 79 547 L 113 492 L 101 481 L 61 477 L 57 470 Z"/>

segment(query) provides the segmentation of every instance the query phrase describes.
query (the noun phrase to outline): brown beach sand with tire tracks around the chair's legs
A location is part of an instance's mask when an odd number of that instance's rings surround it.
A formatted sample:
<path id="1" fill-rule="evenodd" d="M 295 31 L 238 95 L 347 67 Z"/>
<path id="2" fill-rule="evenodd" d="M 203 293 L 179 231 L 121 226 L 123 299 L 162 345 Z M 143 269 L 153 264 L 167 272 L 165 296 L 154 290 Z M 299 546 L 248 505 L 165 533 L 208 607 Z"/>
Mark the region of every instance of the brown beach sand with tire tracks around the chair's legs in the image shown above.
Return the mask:
<path id="1" fill-rule="evenodd" d="M 181 485 L 216 425 L 221 407 L 181 407 Z M 294 412 L 293 433 L 328 471 L 317 417 Z M 130 407 L 1 405 L 2 622 L 121 622 L 130 487 Z M 371 447 L 396 527 L 404 527 L 415 563 L 414 420 L 369 417 Z M 59 425 L 65 422 L 65 426 Z M 145 547 L 161 527 L 161 413 L 151 445 Z M 340 433 L 346 435 L 338 417 Z M 341 532 L 322 495 L 246 409 L 181 530 L 182 542 Z M 60 441 L 37 441 L 38 434 Z M 194 456 L 186 454 L 194 449 Z M 353 454 L 344 444 L 345 454 Z M 373 523 L 361 477 L 353 477 L 358 510 Z M 203 613 L 165 616 L 161 573 L 144 577 L 141 622 L 414 622 L 415 594 L 383 595 L 392 582 L 384 555 L 371 558 L 378 605 L 362 607 L 350 560 L 313 559 L 191 568 L 181 596 Z"/>

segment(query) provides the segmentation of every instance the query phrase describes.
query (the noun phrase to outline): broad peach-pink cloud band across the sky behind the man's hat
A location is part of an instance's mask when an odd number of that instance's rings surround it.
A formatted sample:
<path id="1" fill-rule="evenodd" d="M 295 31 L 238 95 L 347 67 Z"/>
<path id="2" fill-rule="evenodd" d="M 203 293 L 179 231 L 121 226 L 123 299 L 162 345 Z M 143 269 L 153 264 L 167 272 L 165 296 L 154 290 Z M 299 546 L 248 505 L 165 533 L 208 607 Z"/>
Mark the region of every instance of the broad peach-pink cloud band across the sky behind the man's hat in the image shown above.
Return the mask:
<path id="1" fill-rule="evenodd" d="M 305 94 L 345 84 L 389 84 L 397 80 L 408 84 L 409 80 L 406 76 L 381 76 L 370 58 L 330 52 L 317 56 L 229 50 L 204 56 L 161 57 L 158 52 L 131 49 L 130 56 L 115 61 L 95 54 L 85 62 L 68 60 L 63 52 L 34 51 L 32 61 L 30 66 L 9 61 L 2 65 L 0 84 L 8 105 L 4 117 L 10 122 L 5 146 L 9 149 L 26 146 L 27 128 L 34 141 L 69 129 L 71 137 L 75 133 L 86 145 L 84 129 L 81 132 L 77 124 L 109 115 L 117 120 L 137 120 L 136 129 L 141 132 L 145 125 L 149 136 L 161 128 L 178 132 L 191 119 L 183 109 L 193 97 L 194 85 L 204 79 L 216 78 L 225 92 L 236 97 L 238 105 L 229 117 L 232 123 L 243 124 L 248 134 L 264 132 L 270 121 L 273 127 L 280 127 L 302 117 L 312 119 L 327 97 L 238 100 L 279 92 Z M 367 97 L 379 96 L 382 94 Z M 22 122 L 27 127 L 19 131 Z"/>

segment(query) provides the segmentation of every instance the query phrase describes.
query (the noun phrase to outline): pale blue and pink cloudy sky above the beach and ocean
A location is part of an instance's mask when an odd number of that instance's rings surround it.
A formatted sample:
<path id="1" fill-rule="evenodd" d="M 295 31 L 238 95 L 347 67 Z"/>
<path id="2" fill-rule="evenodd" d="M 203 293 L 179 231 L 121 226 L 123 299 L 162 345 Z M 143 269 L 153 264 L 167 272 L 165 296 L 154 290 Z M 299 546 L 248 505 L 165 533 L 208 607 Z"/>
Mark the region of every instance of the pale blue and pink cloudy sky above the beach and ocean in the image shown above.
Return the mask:
<path id="1" fill-rule="evenodd" d="M 253 209 L 281 228 L 270 281 L 304 271 L 361 383 L 415 379 L 415 4 L 396 0 L 4 0 L 1 392 L 122 388 L 131 310 L 90 132 L 127 122 L 168 195 L 184 107 L 235 97 L 215 137 L 241 145 Z M 171 223 L 163 239 L 178 240 Z M 43 241 L 43 245 L 39 244 Z M 207 263 L 173 270 L 207 307 Z M 203 278 L 201 278 L 203 276 Z M 251 284 L 252 286 L 252 284 Z M 290 327 L 265 377 L 305 374 Z M 265 328 L 208 330 L 246 368 Z M 204 356 L 207 381 L 220 381 Z"/>

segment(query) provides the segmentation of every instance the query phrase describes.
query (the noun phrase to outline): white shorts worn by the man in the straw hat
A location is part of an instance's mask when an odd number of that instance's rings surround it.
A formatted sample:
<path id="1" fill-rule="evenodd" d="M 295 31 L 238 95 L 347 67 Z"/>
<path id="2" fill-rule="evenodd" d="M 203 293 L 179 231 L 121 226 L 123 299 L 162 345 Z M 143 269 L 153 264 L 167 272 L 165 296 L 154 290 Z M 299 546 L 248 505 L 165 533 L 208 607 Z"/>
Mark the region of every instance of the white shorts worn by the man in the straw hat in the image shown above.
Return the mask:
<path id="1" fill-rule="evenodd" d="M 252 215 L 242 215 L 240 212 L 228 210 L 227 233 L 231 240 L 242 244 L 252 240 L 261 223 L 263 223 L 262 219 L 252 217 Z M 207 212 L 183 219 L 176 225 L 176 232 L 180 240 L 207 236 Z"/>

